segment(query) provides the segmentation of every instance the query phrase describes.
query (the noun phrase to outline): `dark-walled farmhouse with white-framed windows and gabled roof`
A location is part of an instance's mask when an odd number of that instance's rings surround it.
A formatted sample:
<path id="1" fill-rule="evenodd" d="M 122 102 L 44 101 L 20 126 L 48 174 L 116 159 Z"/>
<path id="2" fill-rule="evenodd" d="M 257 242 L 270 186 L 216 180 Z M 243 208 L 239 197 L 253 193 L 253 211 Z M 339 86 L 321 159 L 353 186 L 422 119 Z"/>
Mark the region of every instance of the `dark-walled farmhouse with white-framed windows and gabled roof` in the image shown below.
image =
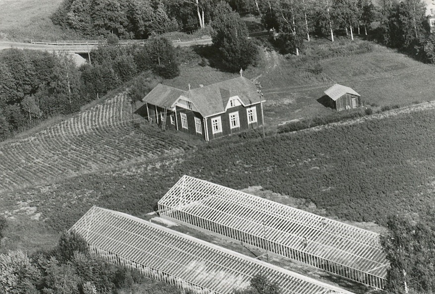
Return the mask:
<path id="1" fill-rule="evenodd" d="M 142 101 L 150 122 L 206 141 L 264 123 L 262 95 L 242 76 L 188 91 L 158 84 Z"/>

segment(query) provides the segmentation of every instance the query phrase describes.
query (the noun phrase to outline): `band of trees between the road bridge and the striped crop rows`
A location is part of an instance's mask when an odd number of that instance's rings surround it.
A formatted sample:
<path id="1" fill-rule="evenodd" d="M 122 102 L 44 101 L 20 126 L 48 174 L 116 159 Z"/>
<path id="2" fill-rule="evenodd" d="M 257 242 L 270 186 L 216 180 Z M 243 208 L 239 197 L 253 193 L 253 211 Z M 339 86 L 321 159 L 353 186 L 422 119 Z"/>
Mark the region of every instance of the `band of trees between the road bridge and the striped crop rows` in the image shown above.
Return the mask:
<path id="1" fill-rule="evenodd" d="M 176 49 L 160 36 L 152 36 L 146 46 L 118 46 L 114 38 L 90 56 L 91 63 L 77 67 L 66 53 L 3 50 L 0 140 L 46 118 L 72 114 L 139 72 L 163 78 L 179 74 Z"/>

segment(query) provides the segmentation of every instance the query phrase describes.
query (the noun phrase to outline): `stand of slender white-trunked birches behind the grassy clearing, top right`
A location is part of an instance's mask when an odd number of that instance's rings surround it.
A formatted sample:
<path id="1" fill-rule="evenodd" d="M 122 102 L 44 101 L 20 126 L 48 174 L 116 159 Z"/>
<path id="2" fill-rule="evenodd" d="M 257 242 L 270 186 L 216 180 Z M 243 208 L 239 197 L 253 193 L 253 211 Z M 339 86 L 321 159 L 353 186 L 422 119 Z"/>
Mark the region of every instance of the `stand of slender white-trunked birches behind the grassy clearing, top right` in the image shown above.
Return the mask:
<path id="1" fill-rule="evenodd" d="M 334 34 L 354 39 L 354 31 L 367 35 L 367 27 L 374 20 L 374 6 L 370 0 L 271 0 L 261 1 L 261 20 L 272 30 L 277 44 L 285 53 L 299 55 L 303 40 L 319 35 L 334 41 Z"/>

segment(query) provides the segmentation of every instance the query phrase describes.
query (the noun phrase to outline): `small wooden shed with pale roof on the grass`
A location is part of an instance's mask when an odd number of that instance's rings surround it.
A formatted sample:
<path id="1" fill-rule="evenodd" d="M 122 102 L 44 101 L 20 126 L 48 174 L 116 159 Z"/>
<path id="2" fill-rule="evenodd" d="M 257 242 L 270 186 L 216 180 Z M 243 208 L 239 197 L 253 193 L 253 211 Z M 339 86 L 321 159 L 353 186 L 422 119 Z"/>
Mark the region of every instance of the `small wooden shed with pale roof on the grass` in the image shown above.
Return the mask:
<path id="1" fill-rule="evenodd" d="M 328 104 L 337 111 L 357 108 L 361 105 L 361 95 L 354 89 L 335 84 L 325 92 L 328 97 Z"/>

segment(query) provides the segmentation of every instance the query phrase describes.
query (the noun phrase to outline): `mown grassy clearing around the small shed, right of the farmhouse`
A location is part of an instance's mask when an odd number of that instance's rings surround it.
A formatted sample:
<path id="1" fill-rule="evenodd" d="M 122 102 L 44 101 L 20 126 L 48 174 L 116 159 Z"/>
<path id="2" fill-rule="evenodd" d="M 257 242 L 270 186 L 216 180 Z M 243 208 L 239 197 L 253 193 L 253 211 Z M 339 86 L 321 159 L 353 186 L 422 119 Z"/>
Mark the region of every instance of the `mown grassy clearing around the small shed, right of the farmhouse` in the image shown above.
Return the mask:
<path id="1" fill-rule="evenodd" d="M 316 42 L 319 44 L 312 45 L 311 50 L 324 46 L 346 48 L 338 43 L 333 46 Z M 346 41 L 339 42 L 345 44 Z M 317 99 L 334 83 L 352 87 L 361 94 L 366 105 L 373 107 L 405 106 L 435 98 L 434 66 L 367 41 L 356 40 L 355 44 L 356 48 L 370 44 L 372 52 L 317 61 L 308 59 L 307 62 L 299 62 L 296 57 L 287 60 L 269 52 L 272 65 L 258 78 L 266 99 L 266 123 L 276 125 L 292 119 L 331 115 L 334 111 Z"/>

